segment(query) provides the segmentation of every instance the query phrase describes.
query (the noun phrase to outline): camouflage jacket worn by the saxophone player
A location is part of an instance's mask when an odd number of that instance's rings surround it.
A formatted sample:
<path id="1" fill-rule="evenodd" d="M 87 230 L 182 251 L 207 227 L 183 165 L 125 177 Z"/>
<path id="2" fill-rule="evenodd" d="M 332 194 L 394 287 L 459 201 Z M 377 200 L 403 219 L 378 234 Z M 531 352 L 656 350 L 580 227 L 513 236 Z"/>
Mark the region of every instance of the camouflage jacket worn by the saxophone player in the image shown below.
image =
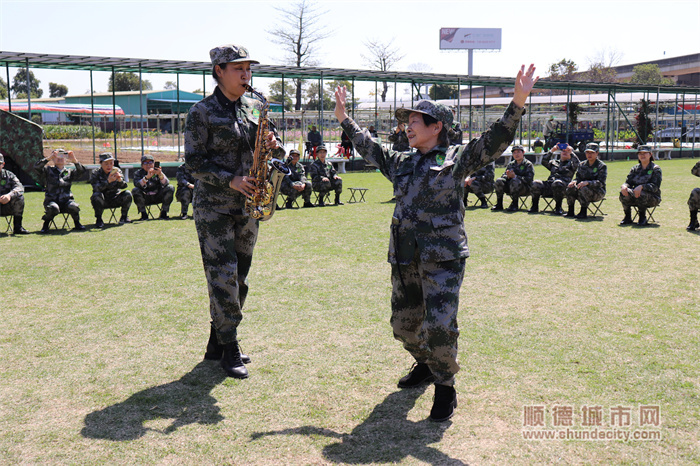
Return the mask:
<path id="1" fill-rule="evenodd" d="M 195 185 L 199 205 L 240 209 L 245 196 L 229 184 L 236 176 L 247 176 L 253 165 L 255 137 L 262 103 L 241 96 L 231 102 L 218 88 L 214 93 L 192 106 L 185 124 L 185 164 Z M 274 131 L 272 125 L 270 130 Z M 282 141 L 272 151 L 276 158 L 284 157 Z"/>

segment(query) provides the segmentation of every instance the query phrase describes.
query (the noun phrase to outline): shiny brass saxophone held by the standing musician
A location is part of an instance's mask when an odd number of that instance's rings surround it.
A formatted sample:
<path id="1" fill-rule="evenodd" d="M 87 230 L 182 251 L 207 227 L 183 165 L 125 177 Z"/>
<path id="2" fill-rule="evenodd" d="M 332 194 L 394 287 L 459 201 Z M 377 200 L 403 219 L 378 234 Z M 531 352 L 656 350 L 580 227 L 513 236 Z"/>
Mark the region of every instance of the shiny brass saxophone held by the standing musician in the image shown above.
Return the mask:
<path id="1" fill-rule="evenodd" d="M 282 179 L 292 171 L 287 165 L 278 159 L 273 159 L 271 150 L 265 147 L 267 133 L 269 133 L 270 120 L 267 112 L 270 105 L 263 95 L 249 85 L 245 85 L 248 92 L 262 101 L 263 108 L 258 119 L 258 132 L 255 136 L 255 151 L 253 152 L 253 166 L 250 168 L 249 177 L 255 185 L 253 194 L 245 201 L 245 210 L 248 215 L 256 220 L 269 220 L 277 208 L 277 195 L 279 194 Z M 270 165 L 268 166 L 268 162 Z"/>

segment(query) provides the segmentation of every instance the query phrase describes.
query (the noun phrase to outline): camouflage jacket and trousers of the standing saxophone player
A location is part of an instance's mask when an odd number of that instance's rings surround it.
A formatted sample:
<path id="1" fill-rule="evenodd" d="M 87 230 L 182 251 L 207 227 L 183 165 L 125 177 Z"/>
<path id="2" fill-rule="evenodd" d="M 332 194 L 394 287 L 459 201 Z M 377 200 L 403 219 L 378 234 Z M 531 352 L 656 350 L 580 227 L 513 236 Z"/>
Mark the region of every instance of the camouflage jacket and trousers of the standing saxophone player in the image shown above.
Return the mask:
<path id="1" fill-rule="evenodd" d="M 217 86 L 187 115 L 185 163 L 197 180 L 194 220 L 212 325 L 221 344 L 236 341 L 258 237 L 258 221 L 245 212 L 245 196 L 230 182 L 247 176 L 253 165 L 261 107 L 258 100 L 245 95 L 232 102 Z M 284 150 L 276 149 L 273 156 L 282 158 Z"/>

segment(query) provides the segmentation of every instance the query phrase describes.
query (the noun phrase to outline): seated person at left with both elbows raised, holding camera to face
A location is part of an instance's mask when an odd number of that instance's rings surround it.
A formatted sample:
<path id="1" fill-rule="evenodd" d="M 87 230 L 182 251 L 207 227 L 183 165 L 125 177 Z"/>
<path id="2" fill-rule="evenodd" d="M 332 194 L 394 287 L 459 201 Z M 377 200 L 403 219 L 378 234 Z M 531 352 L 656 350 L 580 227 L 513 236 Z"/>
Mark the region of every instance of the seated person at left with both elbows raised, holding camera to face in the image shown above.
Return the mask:
<path id="1" fill-rule="evenodd" d="M 75 169 L 66 168 L 66 158 L 75 165 Z M 53 167 L 46 165 L 53 161 Z M 75 158 L 72 150 L 56 149 L 51 154 L 39 160 L 34 169 L 44 179 L 46 194 L 44 195 L 44 216 L 41 218 L 44 224 L 41 233 L 47 233 L 53 218 L 60 212 L 68 213 L 73 218 L 74 230 L 84 230 L 80 224 L 80 206 L 71 192 L 73 181 L 85 173 L 85 167 Z"/>

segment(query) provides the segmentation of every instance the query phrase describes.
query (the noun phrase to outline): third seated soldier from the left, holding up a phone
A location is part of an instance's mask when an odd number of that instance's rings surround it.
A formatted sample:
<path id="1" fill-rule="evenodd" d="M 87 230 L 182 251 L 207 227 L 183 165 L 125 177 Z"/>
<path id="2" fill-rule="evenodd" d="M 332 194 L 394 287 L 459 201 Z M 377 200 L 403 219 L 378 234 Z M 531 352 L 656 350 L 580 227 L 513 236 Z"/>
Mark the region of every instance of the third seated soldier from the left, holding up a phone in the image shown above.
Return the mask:
<path id="1" fill-rule="evenodd" d="M 114 157 L 111 152 L 100 154 L 100 168 L 96 168 L 90 174 L 92 185 L 92 208 L 95 209 L 95 226 L 102 228 L 102 213 L 106 208 L 121 207 L 122 214 L 119 223 L 130 223 L 129 208 L 131 207 L 131 193 L 119 191 L 129 185 L 124 181 L 122 171 L 114 166 Z"/>

